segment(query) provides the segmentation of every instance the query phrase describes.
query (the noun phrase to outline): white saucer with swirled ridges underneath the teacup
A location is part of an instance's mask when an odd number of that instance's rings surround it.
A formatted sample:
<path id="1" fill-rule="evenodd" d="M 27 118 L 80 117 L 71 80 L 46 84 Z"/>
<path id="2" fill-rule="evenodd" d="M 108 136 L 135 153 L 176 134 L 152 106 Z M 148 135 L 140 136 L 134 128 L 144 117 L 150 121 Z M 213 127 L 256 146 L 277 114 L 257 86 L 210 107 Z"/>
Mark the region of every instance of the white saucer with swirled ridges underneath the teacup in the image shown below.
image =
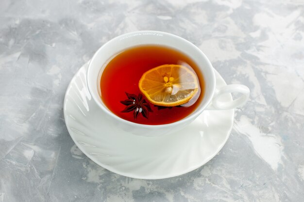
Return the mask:
<path id="1" fill-rule="evenodd" d="M 183 130 L 143 137 L 120 130 L 91 99 L 87 63 L 72 78 L 64 101 L 68 132 L 79 149 L 103 168 L 139 179 L 162 179 L 193 171 L 212 159 L 226 143 L 234 110 L 204 111 Z M 216 71 L 217 88 L 226 83 Z M 231 95 L 223 96 L 232 100 Z"/>

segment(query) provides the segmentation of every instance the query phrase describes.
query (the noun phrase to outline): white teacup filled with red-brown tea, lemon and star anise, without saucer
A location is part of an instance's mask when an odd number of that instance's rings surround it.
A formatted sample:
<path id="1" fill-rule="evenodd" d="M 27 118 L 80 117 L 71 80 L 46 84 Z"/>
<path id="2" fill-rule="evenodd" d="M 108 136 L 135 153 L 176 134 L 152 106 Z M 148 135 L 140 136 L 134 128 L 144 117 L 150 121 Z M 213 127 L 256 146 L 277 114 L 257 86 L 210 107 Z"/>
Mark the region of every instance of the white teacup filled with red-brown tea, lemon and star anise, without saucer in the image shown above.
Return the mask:
<path id="1" fill-rule="evenodd" d="M 216 89 L 212 64 L 198 47 L 160 31 L 135 31 L 105 43 L 88 64 L 87 86 L 111 123 L 142 136 L 178 131 L 204 110 L 242 106 L 249 88 Z M 222 102 L 226 93 L 241 94 Z"/>

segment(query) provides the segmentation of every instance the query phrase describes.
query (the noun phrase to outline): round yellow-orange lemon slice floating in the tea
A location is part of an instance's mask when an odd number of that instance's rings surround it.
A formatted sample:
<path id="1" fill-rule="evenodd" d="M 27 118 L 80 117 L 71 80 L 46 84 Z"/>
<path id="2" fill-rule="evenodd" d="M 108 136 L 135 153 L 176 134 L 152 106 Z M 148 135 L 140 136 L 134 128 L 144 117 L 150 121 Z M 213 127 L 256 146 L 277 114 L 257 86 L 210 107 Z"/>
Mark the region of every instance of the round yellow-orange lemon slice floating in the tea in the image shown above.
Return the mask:
<path id="1" fill-rule="evenodd" d="M 173 107 L 187 103 L 198 93 L 199 80 L 183 65 L 164 64 L 145 72 L 138 86 L 152 104 Z"/>

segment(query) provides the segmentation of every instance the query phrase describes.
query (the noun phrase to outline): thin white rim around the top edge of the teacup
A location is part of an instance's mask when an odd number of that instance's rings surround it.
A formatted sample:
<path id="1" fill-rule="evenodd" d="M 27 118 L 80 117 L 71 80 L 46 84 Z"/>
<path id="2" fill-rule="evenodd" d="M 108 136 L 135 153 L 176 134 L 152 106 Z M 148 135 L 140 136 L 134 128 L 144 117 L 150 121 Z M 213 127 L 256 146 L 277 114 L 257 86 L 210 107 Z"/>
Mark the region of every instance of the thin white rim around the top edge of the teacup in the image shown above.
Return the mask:
<path id="1" fill-rule="evenodd" d="M 157 34 L 164 34 L 164 35 L 168 35 L 169 37 L 173 37 L 173 38 L 176 38 L 180 41 L 183 41 L 184 43 L 190 45 L 191 47 L 193 47 L 196 51 L 198 51 L 201 55 L 202 55 L 202 58 L 205 60 L 205 62 L 208 63 L 208 65 L 210 66 L 210 68 L 212 69 L 211 71 L 211 74 L 212 74 L 212 85 L 213 85 L 213 88 L 211 90 L 211 93 L 210 93 L 210 96 L 209 98 L 207 99 L 207 101 L 205 102 L 205 105 L 201 107 L 201 109 L 198 109 L 197 111 L 195 112 L 192 112 L 191 114 L 189 114 L 187 117 L 179 120 L 179 121 L 176 121 L 176 122 L 173 122 L 173 123 L 170 123 L 170 124 L 158 124 L 158 125 L 149 125 L 149 124 L 137 124 L 137 123 L 134 123 L 134 122 L 131 122 L 131 121 L 128 121 L 128 120 L 125 120 L 125 119 L 122 119 L 120 117 L 118 117 L 117 115 L 115 115 L 113 112 L 111 112 L 109 109 L 106 109 L 103 105 L 101 105 L 101 103 L 99 102 L 99 100 L 97 99 L 101 99 L 100 97 L 96 97 L 95 96 L 95 93 L 92 92 L 92 89 L 91 89 L 91 85 L 90 83 L 88 82 L 89 81 L 89 73 L 90 73 L 90 70 L 92 69 L 92 61 L 98 57 L 98 55 L 100 54 L 100 52 L 102 51 L 102 49 L 110 44 L 110 43 L 113 43 L 114 41 L 116 40 L 119 40 L 120 38 L 123 38 L 125 36 L 128 36 L 128 35 L 134 35 L 134 34 L 137 34 L 137 33 L 157 33 Z M 102 64 L 101 64 L 102 65 Z M 88 87 L 88 90 L 89 90 L 89 93 L 91 94 L 93 100 L 95 101 L 95 103 L 103 110 L 103 112 L 105 112 L 107 115 L 111 116 L 112 118 L 118 120 L 119 122 L 123 122 L 124 124 L 129 124 L 131 126 L 135 126 L 135 127 L 145 127 L 145 128 L 150 128 L 150 129 L 155 129 L 155 128 L 164 128 L 164 127 L 168 127 L 168 126 L 175 126 L 175 125 L 179 125 L 179 124 L 183 124 L 183 123 L 187 123 L 188 121 L 191 121 L 193 119 L 193 117 L 197 117 L 198 115 L 200 115 L 203 110 L 209 105 L 209 103 L 211 102 L 212 98 L 213 98 L 213 95 L 215 93 L 215 87 L 216 87 L 216 77 L 215 77 L 215 73 L 213 71 L 213 66 L 211 64 L 211 62 L 209 61 L 209 59 L 207 58 L 207 56 L 203 53 L 203 51 L 198 48 L 197 46 L 195 46 L 194 44 L 192 44 L 191 42 L 189 42 L 188 40 L 180 37 L 180 36 L 177 36 L 175 34 L 171 34 L 171 33 L 168 33 L 168 32 L 163 32 L 163 31 L 152 31 L 152 30 L 148 30 L 148 31 L 132 31 L 132 32 L 127 32 L 127 33 L 124 33 L 124 34 L 121 34 L 121 35 L 118 35 L 114 38 L 112 38 L 111 40 L 107 41 L 105 44 L 103 44 L 93 55 L 93 57 L 91 58 L 91 60 L 89 61 L 88 63 L 88 68 L 87 68 L 87 73 L 86 73 L 86 82 L 87 82 L 87 87 Z"/>

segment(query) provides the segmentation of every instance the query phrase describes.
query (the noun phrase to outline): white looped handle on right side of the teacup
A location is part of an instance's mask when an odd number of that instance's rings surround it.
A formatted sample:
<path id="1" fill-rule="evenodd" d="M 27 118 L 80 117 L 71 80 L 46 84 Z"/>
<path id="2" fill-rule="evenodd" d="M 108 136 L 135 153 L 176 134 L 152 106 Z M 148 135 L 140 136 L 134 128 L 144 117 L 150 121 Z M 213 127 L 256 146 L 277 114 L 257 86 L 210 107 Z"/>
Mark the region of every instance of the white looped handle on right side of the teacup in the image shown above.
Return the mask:
<path id="1" fill-rule="evenodd" d="M 241 93 L 242 95 L 235 100 L 224 102 L 220 101 L 220 97 L 225 93 Z M 224 86 L 220 89 L 217 89 L 213 99 L 212 105 L 207 108 L 208 109 L 235 109 L 244 105 L 248 98 L 249 98 L 250 90 L 247 86 L 240 85 L 240 84 L 230 84 Z"/>

